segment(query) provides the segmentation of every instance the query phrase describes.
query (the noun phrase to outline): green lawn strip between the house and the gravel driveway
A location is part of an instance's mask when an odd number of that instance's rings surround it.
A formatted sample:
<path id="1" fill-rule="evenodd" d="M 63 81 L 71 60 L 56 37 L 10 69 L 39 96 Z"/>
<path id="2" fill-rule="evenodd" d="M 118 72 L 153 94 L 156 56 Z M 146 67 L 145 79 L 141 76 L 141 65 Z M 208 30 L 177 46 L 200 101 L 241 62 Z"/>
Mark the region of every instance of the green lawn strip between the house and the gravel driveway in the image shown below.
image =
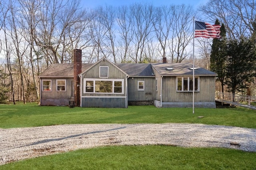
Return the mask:
<path id="1" fill-rule="evenodd" d="M 198 116 L 204 116 L 198 119 Z M 67 106 L 0 105 L 0 128 L 85 123 L 202 123 L 256 129 L 256 111 L 238 108 L 204 109 L 129 106 L 120 108 L 69 108 Z"/>

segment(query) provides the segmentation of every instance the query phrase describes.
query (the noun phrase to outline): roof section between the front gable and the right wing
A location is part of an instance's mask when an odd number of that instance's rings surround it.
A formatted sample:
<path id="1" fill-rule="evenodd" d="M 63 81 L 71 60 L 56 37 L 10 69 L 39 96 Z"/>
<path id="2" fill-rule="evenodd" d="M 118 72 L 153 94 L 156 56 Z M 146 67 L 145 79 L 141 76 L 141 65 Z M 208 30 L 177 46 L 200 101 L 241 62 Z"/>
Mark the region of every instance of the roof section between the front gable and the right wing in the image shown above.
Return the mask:
<path id="1" fill-rule="evenodd" d="M 131 77 L 149 77 L 154 76 L 154 72 L 152 69 L 151 64 L 144 64 L 144 63 L 121 63 L 116 64 L 120 69 L 126 72 Z"/>

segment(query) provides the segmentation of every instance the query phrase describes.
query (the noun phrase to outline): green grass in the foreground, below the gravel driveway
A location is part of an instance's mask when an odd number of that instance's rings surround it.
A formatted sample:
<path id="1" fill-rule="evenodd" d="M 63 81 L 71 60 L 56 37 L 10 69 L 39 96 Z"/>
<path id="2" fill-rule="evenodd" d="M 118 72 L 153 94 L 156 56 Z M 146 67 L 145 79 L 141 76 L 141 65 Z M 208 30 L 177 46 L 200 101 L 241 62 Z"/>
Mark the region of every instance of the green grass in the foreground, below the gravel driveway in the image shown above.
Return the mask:
<path id="1" fill-rule="evenodd" d="M 174 146 L 111 146 L 81 149 L 0 166 L 0 170 L 221 170 L 256 167 L 256 153 Z"/>

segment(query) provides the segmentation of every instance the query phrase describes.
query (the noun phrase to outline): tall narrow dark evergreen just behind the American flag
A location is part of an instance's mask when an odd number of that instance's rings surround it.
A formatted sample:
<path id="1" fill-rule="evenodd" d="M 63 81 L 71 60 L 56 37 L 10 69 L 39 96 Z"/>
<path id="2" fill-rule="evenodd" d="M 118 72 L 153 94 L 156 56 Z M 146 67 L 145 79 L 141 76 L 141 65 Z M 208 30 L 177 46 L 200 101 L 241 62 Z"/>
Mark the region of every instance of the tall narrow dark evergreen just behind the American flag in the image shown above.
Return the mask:
<path id="1" fill-rule="evenodd" d="M 218 19 L 215 21 L 216 25 L 219 25 L 220 22 Z M 210 55 L 210 70 L 216 72 L 218 74 L 217 80 L 221 83 L 221 91 L 224 90 L 224 79 L 226 73 L 226 29 L 224 24 L 220 27 L 220 36 L 221 39 L 213 39 L 212 40 L 212 51 Z"/>

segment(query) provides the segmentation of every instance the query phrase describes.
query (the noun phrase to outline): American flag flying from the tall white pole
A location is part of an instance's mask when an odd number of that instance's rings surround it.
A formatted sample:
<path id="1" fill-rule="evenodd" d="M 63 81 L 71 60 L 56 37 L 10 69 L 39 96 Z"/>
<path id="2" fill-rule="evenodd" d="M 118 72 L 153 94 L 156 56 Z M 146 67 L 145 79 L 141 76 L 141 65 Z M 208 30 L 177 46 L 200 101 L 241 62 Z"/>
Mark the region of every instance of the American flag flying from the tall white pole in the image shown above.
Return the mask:
<path id="1" fill-rule="evenodd" d="M 195 21 L 195 38 L 221 38 L 220 25 L 211 25 L 210 23 Z"/>

